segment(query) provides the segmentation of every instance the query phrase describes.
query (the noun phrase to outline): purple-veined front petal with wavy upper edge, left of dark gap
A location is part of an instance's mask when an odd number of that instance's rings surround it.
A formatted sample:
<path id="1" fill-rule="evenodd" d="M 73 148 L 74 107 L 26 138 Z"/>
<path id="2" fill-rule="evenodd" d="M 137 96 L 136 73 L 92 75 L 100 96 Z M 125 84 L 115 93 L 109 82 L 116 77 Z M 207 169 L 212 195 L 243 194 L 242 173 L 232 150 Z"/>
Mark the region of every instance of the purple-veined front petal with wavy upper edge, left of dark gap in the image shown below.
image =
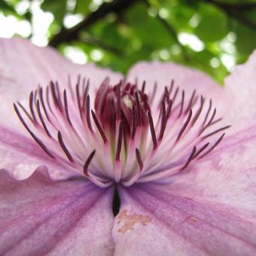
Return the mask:
<path id="1" fill-rule="evenodd" d="M 0 172 L 0 254 L 112 255 L 112 189 Z"/>

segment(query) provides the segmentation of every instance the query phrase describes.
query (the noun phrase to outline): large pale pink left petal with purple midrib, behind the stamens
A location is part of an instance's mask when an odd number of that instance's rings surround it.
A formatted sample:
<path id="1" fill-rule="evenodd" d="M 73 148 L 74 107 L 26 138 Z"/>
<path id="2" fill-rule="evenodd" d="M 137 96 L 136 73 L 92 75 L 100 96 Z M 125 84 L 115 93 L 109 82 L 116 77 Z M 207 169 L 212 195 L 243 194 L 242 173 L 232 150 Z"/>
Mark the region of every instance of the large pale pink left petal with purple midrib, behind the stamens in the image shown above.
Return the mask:
<path id="1" fill-rule="evenodd" d="M 21 135 L 28 136 L 14 112 L 13 102 L 19 100 L 27 106 L 30 91 L 37 89 L 38 84 L 47 85 L 50 80 L 57 80 L 60 86 L 67 87 L 69 75 L 74 86 L 78 75 L 89 78 L 91 93 L 105 77 L 113 83 L 121 78 L 117 73 L 92 64 L 74 64 L 50 47 L 37 47 L 21 38 L 0 38 L 0 123 L 11 127 L 11 130 L 0 128 L 0 169 L 23 179 L 39 165 L 47 164 L 52 178 L 67 177 L 62 166 L 53 163 L 32 139 Z"/>

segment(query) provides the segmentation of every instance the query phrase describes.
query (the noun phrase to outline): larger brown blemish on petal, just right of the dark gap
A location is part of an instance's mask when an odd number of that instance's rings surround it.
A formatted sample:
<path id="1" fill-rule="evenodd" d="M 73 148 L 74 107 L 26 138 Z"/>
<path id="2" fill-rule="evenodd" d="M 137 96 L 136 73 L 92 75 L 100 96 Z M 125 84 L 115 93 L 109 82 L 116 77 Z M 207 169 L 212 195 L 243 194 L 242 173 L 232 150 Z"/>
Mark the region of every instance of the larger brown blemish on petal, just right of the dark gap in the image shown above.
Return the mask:
<path id="1" fill-rule="evenodd" d="M 117 216 L 117 223 L 123 224 L 123 226 L 120 227 L 120 229 L 117 230 L 117 232 L 126 233 L 127 230 L 133 230 L 133 227 L 136 224 L 142 224 L 143 226 L 145 226 L 146 224 L 151 222 L 151 220 L 152 220 L 151 217 L 147 215 L 138 215 L 138 214 L 129 215 L 126 210 L 123 210 Z"/>

